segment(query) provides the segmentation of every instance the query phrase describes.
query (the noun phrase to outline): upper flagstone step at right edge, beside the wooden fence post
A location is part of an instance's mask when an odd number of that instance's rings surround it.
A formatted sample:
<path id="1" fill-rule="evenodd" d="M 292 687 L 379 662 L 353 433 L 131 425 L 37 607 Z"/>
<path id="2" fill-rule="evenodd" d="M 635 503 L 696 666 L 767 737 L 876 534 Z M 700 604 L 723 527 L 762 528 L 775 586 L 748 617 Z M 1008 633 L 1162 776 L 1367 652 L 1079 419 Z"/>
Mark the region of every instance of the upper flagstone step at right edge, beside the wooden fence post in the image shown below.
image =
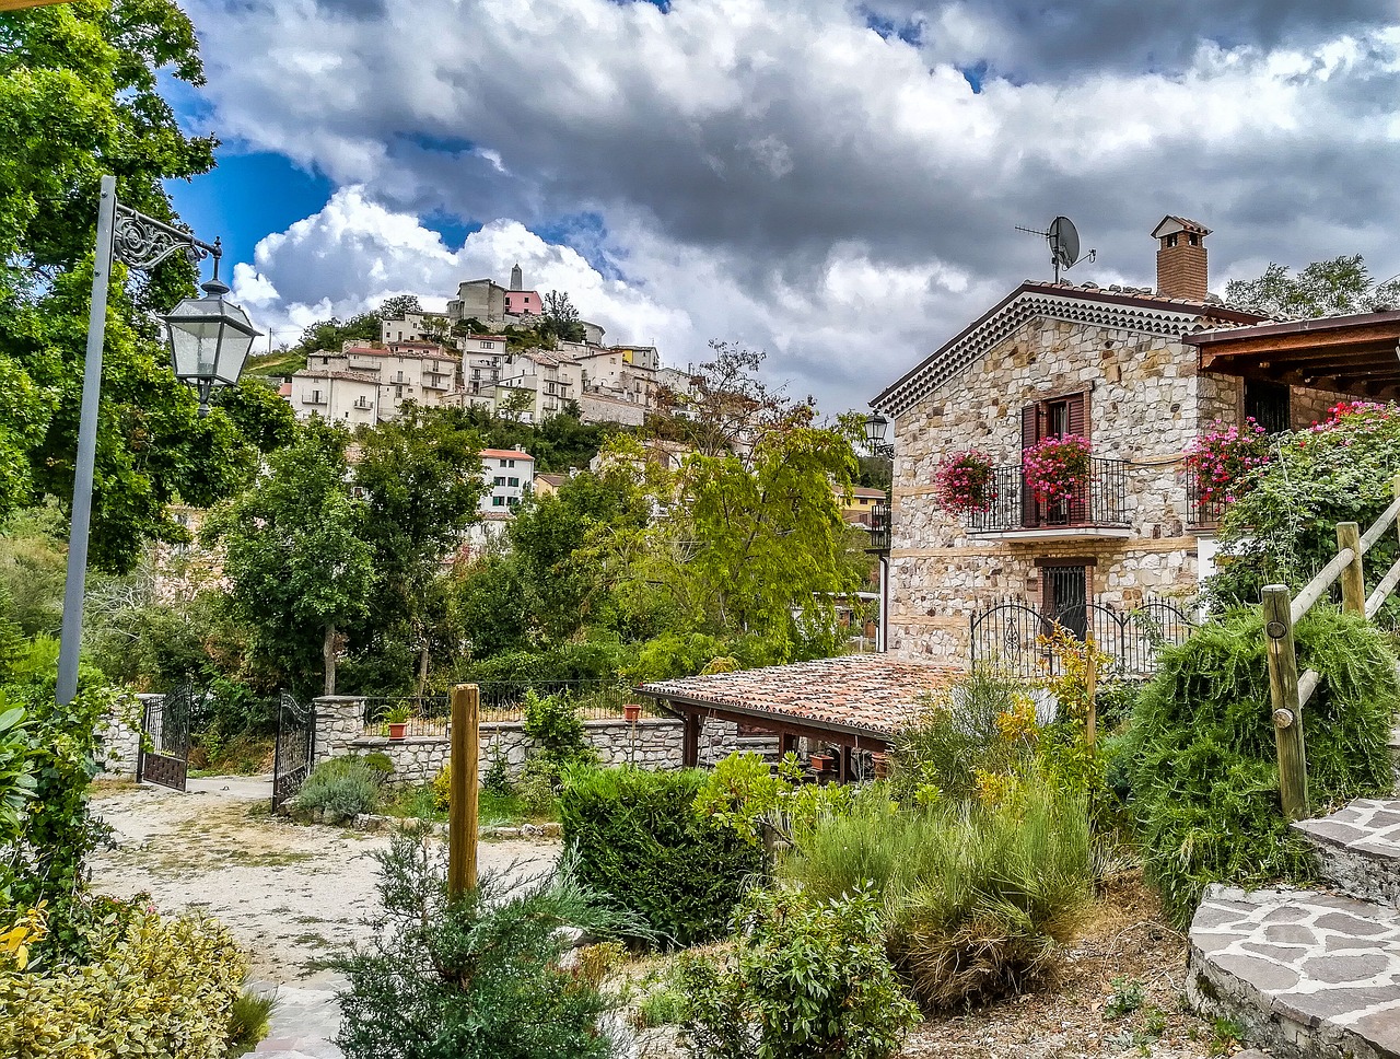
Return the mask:
<path id="1" fill-rule="evenodd" d="M 1357 798 L 1292 826 L 1317 847 L 1330 885 L 1358 901 L 1400 906 L 1400 801 Z"/>

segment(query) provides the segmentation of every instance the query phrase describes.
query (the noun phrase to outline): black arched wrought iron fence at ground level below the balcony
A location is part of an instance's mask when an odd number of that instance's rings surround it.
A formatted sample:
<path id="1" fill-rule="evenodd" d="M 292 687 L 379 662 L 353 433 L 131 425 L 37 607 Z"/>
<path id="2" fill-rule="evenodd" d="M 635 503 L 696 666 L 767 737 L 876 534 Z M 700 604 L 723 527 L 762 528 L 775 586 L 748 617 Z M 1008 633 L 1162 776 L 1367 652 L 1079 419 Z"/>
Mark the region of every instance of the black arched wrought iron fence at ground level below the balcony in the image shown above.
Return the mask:
<path id="1" fill-rule="evenodd" d="M 1166 600 L 1147 600 L 1133 609 L 1074 601 L 1053 614 L 1007 600 L 972 616 L 972 661 L 995 663 L 1023 678 L 1053 677 L 1057 658 L 1047 637 L 1057 625 L 1077 639 L 1092 636 L 1112 658 L 1114 675 L 1133 678 L 1152 675 L 1158 649 L 1183 643 L 1196 629 L 1186 611 Z"/>

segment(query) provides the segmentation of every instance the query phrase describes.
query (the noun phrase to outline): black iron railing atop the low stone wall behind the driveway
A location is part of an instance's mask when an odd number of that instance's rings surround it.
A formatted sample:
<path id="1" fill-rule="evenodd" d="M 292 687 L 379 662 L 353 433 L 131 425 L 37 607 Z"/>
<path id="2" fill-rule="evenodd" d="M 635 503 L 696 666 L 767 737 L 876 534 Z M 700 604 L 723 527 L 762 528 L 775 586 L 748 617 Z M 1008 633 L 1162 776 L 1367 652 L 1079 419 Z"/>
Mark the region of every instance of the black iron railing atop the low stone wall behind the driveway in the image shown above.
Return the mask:
<path id="1" fill-rule="evenodd" d="M 619 681 L 489 681 L 477 684 L 482 724 L 525 720 L 525 700 L 529 692 L 543 698 L 564 695 L 580 720 L 612 720 L 624 716 L 626 703 L 641 705 L 643 714 L 657 712 L 648 699 L 637 698 L 631 686 Z M 356 696 L 360 698 L 360 696 Z M 409 707 L 405 735 L 445 735 L 452 713 L 445 695 L 427 696 L 363 696 L 364 734 L 388 734 L 386 714 L 395 706 Z"/>

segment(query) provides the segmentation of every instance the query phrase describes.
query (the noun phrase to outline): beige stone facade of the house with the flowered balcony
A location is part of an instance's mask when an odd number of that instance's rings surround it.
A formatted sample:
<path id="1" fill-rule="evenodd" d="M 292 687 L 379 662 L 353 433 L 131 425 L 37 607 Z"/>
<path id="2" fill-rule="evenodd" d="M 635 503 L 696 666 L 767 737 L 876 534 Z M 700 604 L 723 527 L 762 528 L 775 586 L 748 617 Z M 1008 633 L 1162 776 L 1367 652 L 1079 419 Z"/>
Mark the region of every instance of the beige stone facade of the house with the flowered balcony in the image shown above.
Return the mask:
<path id="1" fill-rule="evenodd" d="M 1015 321 L 1028 297 L 998 312 Z M 895 409 L 890 651 L 966 665 L 972 616 L 1007 598 L 1039 605 L 1046 566 L 1082 563 L 1089 595 L 1126 609 L 1145 597 L 1193 597 L 1208 573 L 1200 556 L 1214 555 L 1212 541 L 1189 508 L 1182 455 L 1214 420 L 1240 420 L 1242 381 L 1197 370 L 1196 349 L 1179 335 L 1208 322 L 1184 318 L 1186 303 L 1128 311 L 1121 297 L 1096 307 L 1078 289 L 1065 289 L 1061 308 L 1057 301 L 1036 291 L 1033 315 L 1001 332 L 997 314 L 984 318 L 932 366 L 942 382 L 906 380 L 889 391 L 896 401 L 900 388 L 921 394 Z M 995 338 L 976 356 L 960 354 L 980 333 Z M 1019 465 L 1022 409 L 1079 394 L 1093 455 L 1126 461 L 1126 528 L 976 532 L 938 506 L 944 457 L 976 448 L 997 465 Z M 1336 399 L 1295 389 L 1295 422 L 1313 422 Z"/>

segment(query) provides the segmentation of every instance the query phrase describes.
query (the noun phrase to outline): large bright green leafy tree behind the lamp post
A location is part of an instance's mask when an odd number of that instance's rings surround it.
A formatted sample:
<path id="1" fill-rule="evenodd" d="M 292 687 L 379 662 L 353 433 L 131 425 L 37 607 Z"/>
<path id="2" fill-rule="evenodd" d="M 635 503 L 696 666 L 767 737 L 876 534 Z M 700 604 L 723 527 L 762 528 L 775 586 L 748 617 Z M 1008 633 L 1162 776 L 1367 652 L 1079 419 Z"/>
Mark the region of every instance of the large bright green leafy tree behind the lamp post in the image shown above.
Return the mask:
<path id="1" fill-rule="evenodd" d="M 213 167 L 160 77 L 203 84 L 195 31 L 169 0 L 39 7 L 0 21 L 0 515 L 71 497 L 91 296 L 98 178 L 176 221 L 164 181 Z M 116 268 L 108 301 L 91 560 L 125 570 L 146 539 L 175 539 L 167 504 L 241 489 L 255 444 L 165 367 L 153 312 L 193 293 L 179 255 L 150 275 Z"/>

